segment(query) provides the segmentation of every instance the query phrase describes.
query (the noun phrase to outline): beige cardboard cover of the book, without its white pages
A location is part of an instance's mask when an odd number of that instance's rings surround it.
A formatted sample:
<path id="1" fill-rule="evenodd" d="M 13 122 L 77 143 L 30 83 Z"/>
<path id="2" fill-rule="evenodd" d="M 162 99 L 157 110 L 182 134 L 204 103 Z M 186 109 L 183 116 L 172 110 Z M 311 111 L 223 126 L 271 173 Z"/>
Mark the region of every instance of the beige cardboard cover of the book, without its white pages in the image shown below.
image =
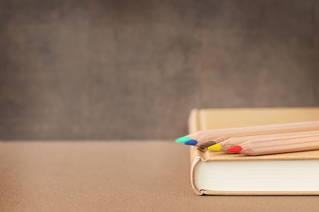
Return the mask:
<path id="1" fill-rule="evenodd" d="M 199 130 L 283 124 L 319 120 L 319 107 L 305 108 L 225 108 L 193 109 L 189 115 L 189 133 Z M 225 154 L 191 146 L 191 184 L 198 195 L 319 195 L 319 191 L 215 191 L 200 190 L 196 185 L 199 163 L 215 161 L 319 160 L 319 150 L 246 156 Z"/>

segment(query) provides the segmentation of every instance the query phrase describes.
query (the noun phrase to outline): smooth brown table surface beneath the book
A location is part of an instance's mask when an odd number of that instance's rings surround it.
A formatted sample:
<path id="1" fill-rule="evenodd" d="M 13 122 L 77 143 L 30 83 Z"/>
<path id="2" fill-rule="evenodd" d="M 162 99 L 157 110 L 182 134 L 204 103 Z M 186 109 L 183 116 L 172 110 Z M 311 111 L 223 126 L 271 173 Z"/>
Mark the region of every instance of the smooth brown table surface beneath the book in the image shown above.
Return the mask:
<path id="1" fill-rule="evenodd" d="M 319 211 L 318 196 L 198 196 L 189 157 L 174 141 L 0 142 L 0 211 Z"/>

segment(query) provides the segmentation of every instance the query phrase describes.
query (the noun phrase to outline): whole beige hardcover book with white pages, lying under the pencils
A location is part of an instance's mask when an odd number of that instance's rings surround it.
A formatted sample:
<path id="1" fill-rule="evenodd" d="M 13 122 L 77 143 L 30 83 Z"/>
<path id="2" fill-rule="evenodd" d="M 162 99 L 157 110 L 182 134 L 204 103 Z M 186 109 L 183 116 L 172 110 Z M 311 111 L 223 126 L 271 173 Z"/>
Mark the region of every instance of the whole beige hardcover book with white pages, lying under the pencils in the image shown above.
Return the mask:
<path id="1" fill-rule="evenodd" d="M 319 120 L 316 108 L 193 109 L 189 133 L 199 130 Z M 319 150 L 261 156 L 190 146 L 191 184 L 198 195 L 319 195 Z"/>

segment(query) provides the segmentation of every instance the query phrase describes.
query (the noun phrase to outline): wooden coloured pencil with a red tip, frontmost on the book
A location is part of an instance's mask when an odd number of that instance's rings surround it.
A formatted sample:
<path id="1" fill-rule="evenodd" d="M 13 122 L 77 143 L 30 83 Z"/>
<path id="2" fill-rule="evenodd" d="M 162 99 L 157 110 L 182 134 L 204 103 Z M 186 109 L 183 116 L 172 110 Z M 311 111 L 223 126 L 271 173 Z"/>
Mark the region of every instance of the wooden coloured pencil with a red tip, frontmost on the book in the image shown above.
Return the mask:
<path id="1" fill-rule="evenodd" d="M 301 152 L 319 149 L 319 134 L 287 136 L 279 139 L 253 139 L 227 149 L 227 152 L 250 156 Z"/>

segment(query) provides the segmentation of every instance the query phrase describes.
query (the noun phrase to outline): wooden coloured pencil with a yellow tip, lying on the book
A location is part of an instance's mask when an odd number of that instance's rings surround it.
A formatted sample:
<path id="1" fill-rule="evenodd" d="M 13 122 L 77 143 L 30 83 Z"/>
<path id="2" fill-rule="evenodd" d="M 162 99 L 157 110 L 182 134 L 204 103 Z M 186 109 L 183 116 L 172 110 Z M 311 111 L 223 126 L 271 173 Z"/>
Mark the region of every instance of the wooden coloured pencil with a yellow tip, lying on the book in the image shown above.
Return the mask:
<path id="1" fill-rule="evenodd" d="M 253 136 L 242 136 L 242 137 L 233 137 L 227 140 L 224 140 L 220 143 L 216 143 L 212 146 L 208 146 L 209 150 L 215 150 L 218 152 L 226 152 L 228 148 L 231 148 L 236 145 L 240 145 L 246 141 L 253 139 L 262 139 L 262 138 L 280 138 L 286 136 L 306 136 L 311 134 L 319 134 L 319 130 L 315 131 L 304 131 L 304 132 L 291 132 L 291 133 L 277 133 L 277 134 L 266 134 L 266 135 L 253 135 Z"/>

